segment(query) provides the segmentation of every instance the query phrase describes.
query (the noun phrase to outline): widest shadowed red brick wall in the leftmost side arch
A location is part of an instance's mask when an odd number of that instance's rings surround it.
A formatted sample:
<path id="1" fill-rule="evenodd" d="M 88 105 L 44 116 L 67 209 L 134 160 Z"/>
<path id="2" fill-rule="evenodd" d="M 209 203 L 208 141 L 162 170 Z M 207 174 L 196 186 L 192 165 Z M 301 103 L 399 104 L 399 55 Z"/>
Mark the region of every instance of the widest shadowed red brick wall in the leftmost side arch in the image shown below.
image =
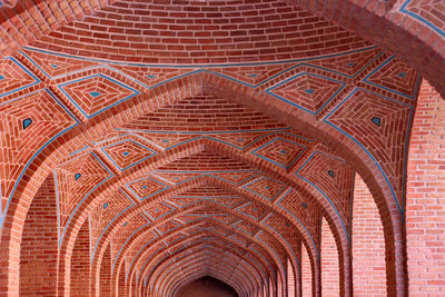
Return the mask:
<path id="1" fill-rule="evenodd" d="M 20 255 L 20 296 L 56 296 L 57 205 L 52 175 L 28 210 Z"/>

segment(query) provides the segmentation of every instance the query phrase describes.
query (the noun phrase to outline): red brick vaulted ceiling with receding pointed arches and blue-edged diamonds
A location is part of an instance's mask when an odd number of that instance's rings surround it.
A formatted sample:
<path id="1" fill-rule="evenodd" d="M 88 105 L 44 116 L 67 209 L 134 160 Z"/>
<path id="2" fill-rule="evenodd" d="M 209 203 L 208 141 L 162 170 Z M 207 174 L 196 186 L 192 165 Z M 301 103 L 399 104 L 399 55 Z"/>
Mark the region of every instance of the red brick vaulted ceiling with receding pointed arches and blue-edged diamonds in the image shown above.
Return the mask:
<path id="1" fill-rule="evenodd" d="M 317 261 L 322 216 L 350 257 L 357 171 L 397 239 L 415 70 L 281 0 L 96 2 L 3 8 L 32 40 L 0 62 L 3 229 L 52 182 L 59 257 L 88 221 L 96 269 L 245 296 Z"/>

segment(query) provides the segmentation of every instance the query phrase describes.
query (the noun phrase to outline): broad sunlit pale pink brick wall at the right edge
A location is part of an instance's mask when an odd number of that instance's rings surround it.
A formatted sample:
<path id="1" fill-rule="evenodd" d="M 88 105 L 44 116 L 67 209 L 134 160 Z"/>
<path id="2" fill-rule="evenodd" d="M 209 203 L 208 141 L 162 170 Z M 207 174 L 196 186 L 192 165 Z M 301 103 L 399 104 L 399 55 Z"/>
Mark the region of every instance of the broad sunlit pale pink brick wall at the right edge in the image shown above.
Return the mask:
<path id="1" fill-rule="evenodd" d="M 409 141 L 406 237 L 411 296 L 445 296 L 445 100 L 425 80 Z"/>

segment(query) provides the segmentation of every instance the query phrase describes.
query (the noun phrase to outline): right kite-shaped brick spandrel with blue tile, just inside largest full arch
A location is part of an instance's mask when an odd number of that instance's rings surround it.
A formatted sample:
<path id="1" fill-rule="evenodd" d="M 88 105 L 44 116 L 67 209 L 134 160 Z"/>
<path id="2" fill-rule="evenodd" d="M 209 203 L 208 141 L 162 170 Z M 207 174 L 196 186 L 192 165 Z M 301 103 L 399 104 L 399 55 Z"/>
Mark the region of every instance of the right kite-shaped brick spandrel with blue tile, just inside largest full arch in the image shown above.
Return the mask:
<path id="1" fill-rule="evenodd" d="M 329 172 L 333 172 L 333 176 Z M 315 185 L 336 206 L 349 230 L 354 170 L 347 162 L 329 155 L 315 152 L 297 171 L 297 175 Z"/>

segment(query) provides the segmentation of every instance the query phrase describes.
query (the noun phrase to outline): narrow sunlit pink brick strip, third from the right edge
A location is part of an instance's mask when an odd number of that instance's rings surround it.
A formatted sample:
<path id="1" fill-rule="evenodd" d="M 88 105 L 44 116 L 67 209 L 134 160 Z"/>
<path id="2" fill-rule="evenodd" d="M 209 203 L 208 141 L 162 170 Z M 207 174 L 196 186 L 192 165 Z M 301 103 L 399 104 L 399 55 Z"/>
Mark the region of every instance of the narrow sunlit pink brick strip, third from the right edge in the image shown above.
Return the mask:
<path id="1" fill-rule="evenodd" d="M 340 279 L 338 250 L 330 227 L 325 218 L 322 221 L 322 296 L 339 296 Z"/>

